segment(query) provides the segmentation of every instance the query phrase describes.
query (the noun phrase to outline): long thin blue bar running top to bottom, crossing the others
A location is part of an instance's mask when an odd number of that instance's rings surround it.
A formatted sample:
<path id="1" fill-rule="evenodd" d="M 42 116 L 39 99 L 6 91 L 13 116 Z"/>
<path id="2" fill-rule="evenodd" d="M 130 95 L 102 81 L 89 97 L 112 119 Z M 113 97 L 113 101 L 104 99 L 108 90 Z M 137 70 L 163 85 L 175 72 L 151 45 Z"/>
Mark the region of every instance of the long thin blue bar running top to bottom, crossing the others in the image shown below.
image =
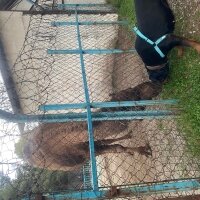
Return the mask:
<path id="1" fill-rule="evenodd" d="M 90 159 L 91 159 L 91 168 L 92 168 L 92 186 L 94 191 L 98 191 L 98 178 L 97 178 L 97 166 L 96 166 L 96 158 L 95 158 L 95 149 L 94 149 L 94 136 L 93 136 L 93 127 L 92 127 L 92 114 L 90 108 L 90 97 L 87 85 L 87 77 L 85 71 L 85 63 L 83 57 L 83 49 L 81 43 L 81 35 L 79 29 L 79 18 L 78 18 L 78 11 L 77 6 L 75 10 L 76 15 L 76 27 L 77 27 L 77 39 L 78 39 L 78 46 L 80 50 L 80 61 L 81 61 L 81 70 L 82 70 L 82 78 L 84 84 L 84 91 L 85 91 L 85 100 L 86 100 L 86 108 L 87 108 L 87 122 L 88 122 L 88 133 L 89 133 L 89 145 L 90 145 Z"/>

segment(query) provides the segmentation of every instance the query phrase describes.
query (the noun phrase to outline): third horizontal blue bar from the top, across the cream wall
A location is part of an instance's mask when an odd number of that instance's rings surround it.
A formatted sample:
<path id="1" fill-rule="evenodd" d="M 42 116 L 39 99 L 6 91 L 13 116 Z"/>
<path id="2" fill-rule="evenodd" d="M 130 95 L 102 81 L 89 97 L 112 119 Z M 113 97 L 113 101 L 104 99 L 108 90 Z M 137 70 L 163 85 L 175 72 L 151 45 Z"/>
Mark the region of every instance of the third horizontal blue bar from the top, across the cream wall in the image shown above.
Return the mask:
<path id="1" fill-rule="evenodd" d="M 66 50 L 52 50 L 48 49 L 47 54 L 119 54 L 119 53 L 134 53 L 135 49 L 122 50 L 122 49 L 66 49 Z"/>

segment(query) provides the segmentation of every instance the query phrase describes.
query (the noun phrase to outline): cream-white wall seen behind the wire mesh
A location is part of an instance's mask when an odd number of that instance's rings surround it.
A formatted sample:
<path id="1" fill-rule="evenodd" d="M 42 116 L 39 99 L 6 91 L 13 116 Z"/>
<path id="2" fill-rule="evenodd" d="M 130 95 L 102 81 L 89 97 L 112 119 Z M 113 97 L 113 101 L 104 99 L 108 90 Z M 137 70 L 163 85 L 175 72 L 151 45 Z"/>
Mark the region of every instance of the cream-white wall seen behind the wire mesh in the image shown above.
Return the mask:
<path id="1" fill-rule="evenodd" d="M 94 20 L 99 18 L 101 21 L 109 20 L 109 17 L 111 20 L 117 19 L 117 15 L 94 16 L 93 18 Z M 82 16 L 82 18 L 83 20 L 91 19 L 89 16 Z M 22 102 L 24 113 L 37 113 L 38 106 L 42 104 L 84 101 L 79 55 L 51 55 L 51 52 L 47 54 L 48 49 L 73 50 L 78 48 L 76 27 L 52 26 L 51 23 L 56 20 L 74 21 L 75 18 L 73 15 L 45 15 L 42 18 L 38 15 L 32 16 L 24 49 L 13 68 L 14 79 L 17 79 L 16 87 L 20 90 L 19 94 L 23 95 L 20 98 L 24 100 Z M 85 27 L 81 32 L 85 49 L 95 48 L 98 43 L 101 43 L 101 47 L 105 49 L 114 47 L 117 40 L 117 27 L 106 26 L 106 29 L 102 26 L 96 29 L 95 25 Z M 101 38 L 103 33 L 105 36 Z M 34 50 L 31 50 L 31 47 Z M 27 63 L 29 59 L 32 60 L 30 64 Z M 65 67 L 66 63 L 69 64 L 68 67 Z M 85 63 L 88 75 L 92 79 L 89 81 L 93 93 L 91 98 L 94 101 L 108 100 L 109 94 L 112 93 L 113 56 L 108 55 L 106 58 L 105 56 L 86 56 Z M 27 67 L 27 64 L 32 67 Z M 22 72 L 23 76 L 21 76 Z M 100 80 L 97 80 L 97 77 L 100 77 Z M 21 84 L 22 81 L 23 84 Z M 25 91 L 22 92 L 22 90 Z"/>

